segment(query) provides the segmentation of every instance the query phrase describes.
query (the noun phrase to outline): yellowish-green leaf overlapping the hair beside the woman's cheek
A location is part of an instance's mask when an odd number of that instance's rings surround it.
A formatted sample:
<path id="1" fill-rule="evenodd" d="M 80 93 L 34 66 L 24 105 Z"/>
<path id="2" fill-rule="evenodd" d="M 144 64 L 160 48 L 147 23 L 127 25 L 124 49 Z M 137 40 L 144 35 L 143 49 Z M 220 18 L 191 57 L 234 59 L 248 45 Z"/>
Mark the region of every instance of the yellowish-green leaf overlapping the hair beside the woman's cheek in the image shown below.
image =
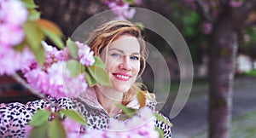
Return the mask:
<path id="1" fill-rule="evenodd" d="M 93 65 L 88 66 L 87 69 L 90 72 L 90 76 L 96 80 L 96 83 L 112 86 L 108 73 L 103 68 Z"/>

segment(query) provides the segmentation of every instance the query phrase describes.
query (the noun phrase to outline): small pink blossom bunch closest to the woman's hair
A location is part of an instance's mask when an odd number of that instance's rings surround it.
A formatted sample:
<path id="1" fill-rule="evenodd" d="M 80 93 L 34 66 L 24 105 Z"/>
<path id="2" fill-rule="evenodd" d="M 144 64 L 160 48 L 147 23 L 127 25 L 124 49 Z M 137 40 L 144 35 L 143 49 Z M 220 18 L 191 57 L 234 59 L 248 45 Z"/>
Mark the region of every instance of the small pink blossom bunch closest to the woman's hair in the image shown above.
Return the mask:
<path id="1" fill-rule="evenodd" d="M 86 44 L 79 43 L 78 41 L 75 43 L 79 47 L 79 51 L 78 51 L 79 62 L 84 66 L 92 66 L 95 62 L 95 59 L 93 56 L 94 52 L 90 51 L 90 47 Z"/>

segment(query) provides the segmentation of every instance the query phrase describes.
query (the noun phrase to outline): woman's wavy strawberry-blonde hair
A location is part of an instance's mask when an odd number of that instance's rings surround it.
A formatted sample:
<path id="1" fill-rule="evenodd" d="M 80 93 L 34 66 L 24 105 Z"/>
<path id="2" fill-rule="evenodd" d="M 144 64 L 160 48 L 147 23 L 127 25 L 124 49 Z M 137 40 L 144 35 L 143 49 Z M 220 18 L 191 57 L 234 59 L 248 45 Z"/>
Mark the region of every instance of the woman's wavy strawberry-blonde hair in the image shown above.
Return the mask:
<path id="1" fill-rule="evenodd" d="M 114 40 L 119 38 L 122 35 L 129 34 L 133 37 L 137 37 L 138 42 L 140 43 L 140 55 L 141 62 L 143 67 L 139 72 L 139 76 L 143 73 L 146 67 L 146 59 L 148 57 L 148 50 L 146 49 L 145 41 L 141 30 L 132 24 L 128 20 L 112 20 L 102 26 L 99 26 L 91 32 L 89 38 L 85 41 L 86 44 L 90 46 L 90 49 L 94 51 L 94 55 L 99 56 L 103 49 L 108 48 L 109 44 Z M 131 86 L 131 89 L 128 90 L 123 96 L 123 103 L 129 103 L 137 95 L 137 90 L 141 90 L 142 83 L 134 83 Z M 143 86 L 145 87 L 145 86 Z M 148 92 L 148 90 L 147 90 Z M 146 92 L 146 93 L 147 93 Z M 145 93 L 145 92 L 144 92 Z M 146 94 L 145 93 L 145 94 Z M 152 98 L 148 97 L 149 99 Z"/>

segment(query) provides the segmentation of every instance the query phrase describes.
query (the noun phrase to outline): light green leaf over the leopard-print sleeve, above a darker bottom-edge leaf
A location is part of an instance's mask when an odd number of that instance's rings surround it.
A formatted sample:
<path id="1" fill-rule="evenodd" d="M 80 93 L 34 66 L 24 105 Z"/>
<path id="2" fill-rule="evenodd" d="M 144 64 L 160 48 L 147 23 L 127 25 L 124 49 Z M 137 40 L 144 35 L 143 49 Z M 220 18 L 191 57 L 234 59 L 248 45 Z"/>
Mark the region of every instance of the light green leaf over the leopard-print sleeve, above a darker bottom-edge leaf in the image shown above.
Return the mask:
<path id="1" fill-rule="evenodd" d="M 48 122 L 50 112 L 47 110 L 38 110 L 33 114 L 32 120 L 29 125 L 39 126 Z"/>

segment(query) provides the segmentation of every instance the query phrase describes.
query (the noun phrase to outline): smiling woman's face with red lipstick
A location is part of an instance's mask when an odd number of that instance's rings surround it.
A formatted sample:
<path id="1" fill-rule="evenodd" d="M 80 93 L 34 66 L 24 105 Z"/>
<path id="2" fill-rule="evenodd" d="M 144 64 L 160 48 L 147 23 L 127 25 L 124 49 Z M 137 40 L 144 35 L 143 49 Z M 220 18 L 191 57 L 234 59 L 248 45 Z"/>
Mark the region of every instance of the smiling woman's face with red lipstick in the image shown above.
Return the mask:
<path id="1" fill-rule="evenodd" d="M 137 38 L 131 35 L 119 37 L 103 50 L 101 58 L 113 84 L 111 89 L 127 92 L 140 71 L 140 44 Z"/>

